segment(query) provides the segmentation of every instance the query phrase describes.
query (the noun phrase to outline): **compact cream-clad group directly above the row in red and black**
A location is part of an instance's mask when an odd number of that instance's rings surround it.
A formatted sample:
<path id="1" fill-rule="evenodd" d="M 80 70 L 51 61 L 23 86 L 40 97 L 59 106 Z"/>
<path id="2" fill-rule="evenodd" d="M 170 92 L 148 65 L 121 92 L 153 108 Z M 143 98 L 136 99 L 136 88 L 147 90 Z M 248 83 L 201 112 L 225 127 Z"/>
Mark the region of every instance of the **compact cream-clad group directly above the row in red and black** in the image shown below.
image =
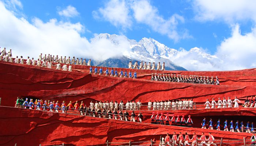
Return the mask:
<path id="1" fill-rule="evenodd" d="M 193 99 L 177 99 L 176 102 L 174 100 L 154 100 L 152 103 L 151 100 L 149 100 L 147 108 L 148 110 L 176 110 L 176 109 L 193 109 Z"/>

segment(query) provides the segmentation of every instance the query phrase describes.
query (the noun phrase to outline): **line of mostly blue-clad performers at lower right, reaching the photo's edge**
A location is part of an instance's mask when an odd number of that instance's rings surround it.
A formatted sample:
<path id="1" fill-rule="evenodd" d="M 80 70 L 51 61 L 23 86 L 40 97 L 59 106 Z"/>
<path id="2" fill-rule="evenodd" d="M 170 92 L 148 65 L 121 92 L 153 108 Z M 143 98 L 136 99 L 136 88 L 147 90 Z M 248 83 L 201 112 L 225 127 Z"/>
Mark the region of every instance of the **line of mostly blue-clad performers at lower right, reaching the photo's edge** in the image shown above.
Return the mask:
<path id="1" fill-rule="evenodd" d="M 221 125 L 221 120 L 218 119 L 218 122 L 213 125 L 212 119 L 210 119 L 210 121 L 208 122 L 208 124 L 206 124 L 206 118 L 203 119 L 203 122 L 201 123 L 202 128 L 206 129 L 206 126 L 208 126 L 208 129 L 213 129 L 214 126 L 216 126 L 217 130 L 221 130 L 221 127 L 224 128 L 223 131 L 231 131 L 231 132 L 242 132 L 242 127 L 244 126 L 243 121 L 240 122 L 237 120 L 237 122 L 235 123 L 235 126 L 233 126 L 233 120 L 230 120 L 230 123 L 227 122 L 227 120 L 225 120 L 225 122 L 223 123 L 223 125 Z M 229 127 L 229 129 L 228 129 Z M 245 132 L 251 133 L 251 132 L 255 132 L 254 129 L 254 124 L 253 122 L 250 124 L 250 122 L 248 121 L 246 123 L 246 127 L 244 127 Z"/>

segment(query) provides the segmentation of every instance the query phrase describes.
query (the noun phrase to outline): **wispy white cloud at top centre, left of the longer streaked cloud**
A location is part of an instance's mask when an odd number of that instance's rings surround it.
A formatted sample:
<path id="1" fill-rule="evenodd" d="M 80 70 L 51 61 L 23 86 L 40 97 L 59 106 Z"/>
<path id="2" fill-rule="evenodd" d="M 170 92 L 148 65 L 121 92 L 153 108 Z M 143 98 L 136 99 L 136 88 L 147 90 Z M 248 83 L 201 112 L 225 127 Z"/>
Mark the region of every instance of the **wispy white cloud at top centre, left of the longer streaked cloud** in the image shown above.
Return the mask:
<path id="1" fill-rule="evenodd" d="M 103 8 L 93 11 L 95 19 L 103 18 L 114 26 L 121 26 L 123 29 L 131 28 L 132 20 L 129 15 L 129 6 L 124 0 L 110 0 Z"/>

